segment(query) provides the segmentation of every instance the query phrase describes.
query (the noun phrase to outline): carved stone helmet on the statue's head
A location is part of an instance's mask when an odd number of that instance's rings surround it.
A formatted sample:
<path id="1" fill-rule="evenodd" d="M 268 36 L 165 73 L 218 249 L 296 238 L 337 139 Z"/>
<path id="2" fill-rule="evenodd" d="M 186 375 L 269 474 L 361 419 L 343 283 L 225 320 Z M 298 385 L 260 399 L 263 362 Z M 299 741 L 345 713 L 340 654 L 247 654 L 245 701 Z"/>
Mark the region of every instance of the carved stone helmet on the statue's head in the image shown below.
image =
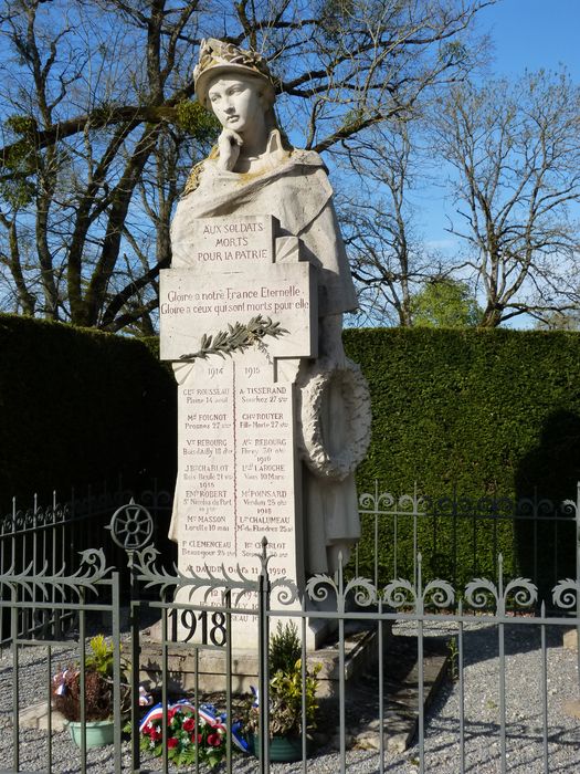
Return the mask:
<path id="1" fill-rule="evenodd" d="M 233 43 L 225 43 L 214 38 L 202 40 L 199 51 L 199 62 L 193 70 L 196 95 L 204 107 L 208 104 L 208 90 L 211 81 L 221 73 L 239 73 L 260 80 L 263 95 L 270 106 L 276 97 L 272 75 L 266 61 L 255 51 L 244 51 Z"/>

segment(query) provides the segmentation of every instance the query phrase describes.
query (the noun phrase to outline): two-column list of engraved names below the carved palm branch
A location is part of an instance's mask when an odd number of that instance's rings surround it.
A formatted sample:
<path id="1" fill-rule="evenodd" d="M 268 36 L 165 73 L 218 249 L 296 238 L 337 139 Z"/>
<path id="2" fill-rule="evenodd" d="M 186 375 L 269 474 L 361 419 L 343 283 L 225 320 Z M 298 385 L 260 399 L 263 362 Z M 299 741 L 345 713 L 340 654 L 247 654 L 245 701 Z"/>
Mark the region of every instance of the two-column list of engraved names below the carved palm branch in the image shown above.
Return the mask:
<path id="1" fill-rule="evenodd" d="M 213 367 L 209 379 L 212 366 L 199 365 L 201 384 L 180 387 L 180 564 L 196 573 L 239 564 L 255 574 L 265 535 L 273 574 L 287 572 L 295 558 L 292 385 L 251 384 L 239 358 L 219 374 Z"/>

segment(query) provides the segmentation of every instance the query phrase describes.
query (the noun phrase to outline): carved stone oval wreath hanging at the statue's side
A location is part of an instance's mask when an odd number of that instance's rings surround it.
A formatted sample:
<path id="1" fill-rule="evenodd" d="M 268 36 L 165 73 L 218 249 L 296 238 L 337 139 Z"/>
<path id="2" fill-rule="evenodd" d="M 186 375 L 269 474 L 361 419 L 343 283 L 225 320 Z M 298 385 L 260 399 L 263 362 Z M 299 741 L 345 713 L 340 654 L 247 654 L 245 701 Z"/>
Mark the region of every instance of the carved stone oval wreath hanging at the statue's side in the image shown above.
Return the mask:
<path id="1" fill-rule="evenodd" d="M 344 368 L 326 359 L 314 364 L 298 377 L 300 420 L 298 442 L 300 457 L 315 475 L 342 481 L 355 472 L 370 443 L 370 393 L 360 367 L 346 359 Z M 338 387 L 342 396 L 342 421 L 347 423 L 348 443 L 337 453 L 326 448 L 323 429 L 323 406 L 328 390 Z M 338 420 L 338 419 L 337 419 Z"/>

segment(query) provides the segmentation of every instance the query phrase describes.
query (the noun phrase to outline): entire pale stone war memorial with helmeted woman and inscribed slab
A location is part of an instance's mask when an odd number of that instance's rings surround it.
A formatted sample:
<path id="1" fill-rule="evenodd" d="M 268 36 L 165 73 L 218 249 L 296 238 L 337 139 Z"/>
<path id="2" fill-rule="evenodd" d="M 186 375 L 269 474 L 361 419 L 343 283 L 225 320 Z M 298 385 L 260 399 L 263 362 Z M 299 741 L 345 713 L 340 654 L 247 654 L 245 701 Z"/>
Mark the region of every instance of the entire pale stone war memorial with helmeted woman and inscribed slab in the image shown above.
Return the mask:
<path id="1" fill-rule="evenodd" d="M 360 534 L 370 405 L 341 342 L 356 293 L 327 171 L 278 127 L 264 59 L 210 39 L 194 80 L 223 128 L 189 176 L 161 273 L 161 358 L 178 384 L 170 537 L 181 572 L 249 577 L 266 537 L 271 576 L 300 588 Z M 236 618 L 235 647 L 257 647 Z"/>

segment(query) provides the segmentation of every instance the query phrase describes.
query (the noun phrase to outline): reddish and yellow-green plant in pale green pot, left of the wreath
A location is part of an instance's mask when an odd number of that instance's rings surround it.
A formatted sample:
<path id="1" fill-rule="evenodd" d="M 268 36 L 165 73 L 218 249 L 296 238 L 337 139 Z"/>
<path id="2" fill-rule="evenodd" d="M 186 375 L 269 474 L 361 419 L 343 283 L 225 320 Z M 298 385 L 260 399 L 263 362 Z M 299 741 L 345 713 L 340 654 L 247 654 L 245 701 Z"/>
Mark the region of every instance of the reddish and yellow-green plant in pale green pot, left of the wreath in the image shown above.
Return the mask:
<path id="1" fill-rule="evenodd" d="M 86 746 L 99 747 L 113 742 L 114 735 L 114 648 L 103 635 L 93 637 L 85 659 L 85 730 Z M 129 708 L 129 684 L 125 671 L 119 676 L 122 712 Z M 53 707 L 68 721 L 71 738 L 81 746 L 81 668 L 63 669 L 52 681 Z"/>

